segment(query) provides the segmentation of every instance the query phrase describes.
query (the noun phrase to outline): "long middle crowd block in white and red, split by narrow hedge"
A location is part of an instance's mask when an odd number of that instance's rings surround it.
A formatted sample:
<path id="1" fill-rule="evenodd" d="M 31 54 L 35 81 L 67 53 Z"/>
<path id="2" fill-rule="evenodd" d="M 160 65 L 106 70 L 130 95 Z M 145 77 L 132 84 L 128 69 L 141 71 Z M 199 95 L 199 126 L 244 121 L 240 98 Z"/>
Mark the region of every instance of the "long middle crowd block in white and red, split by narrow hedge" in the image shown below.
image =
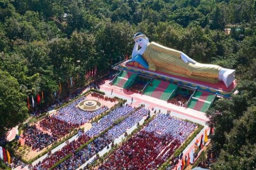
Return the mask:
<path id="1" fill-rule="evenodd" d="M 39 162 L 35 167 L 34 170 L 47 170 L 49 167 L 51 167 L 52 165 L 54 165 L 57 161 L 61 160 L 62 158 L 64 158 L 67 154 L 69 153 L 73 153 L 75 151 L 75 149 L 77 149 L 78 147 L 80 147 L 83 143 L 86 143 L 88 140 L 90 140 L 92 137 L 99 135 L 103 130 L 105 130 L 106 128 L 110 127 L 113 124 L 113 121 L 115 119 L 119 119 L 122 116 L 128 115 L 128 113 L 130 113 L 133 110 L 133 108 L 131 106 L 123 106 L 123 107 L 119 107 L 115 110 L 112 110 L 108 115 L 104 116 L 99 123 L 93 123 L 92 124 L 92 128 L 90 130 L 88 130 L 87 132 L 85 132 L 82 137 L 79 137 L 78 140 L 74 140 L 72 141 L 70 144 L 67 144 L 66 146 L 64 146 L 64 148 L 62 148 L 61 150 L 57 151 L 54 154 L 49 155 L 48 157 L 46 157 L 45 160 L 43 160 L 42 162 Z M 140 119 L 143 117 L 143 115 L 145 115 L 148 111 L 146 109 L 140 109 L 137 110 L 136 113 L 133 113 L 132 116 L 133 118 L 130 119 L 130 121 L 136 121 L 137 119 Z M 136 119 L 136 115 L 137 115 L 137 119 Z M 128 121 L 129 122 L 129 121 Z M 123 124 L 122 129 L 127 129 L 128 125 L 130 126 L 132 123 L 125 123 Z M 126 125 L 126 126 L 124 126 Z M 95 128 L 95 126 L 97 128 Z M 103 126 L 103 127 L 101 127 Z M 100 128 L 98 128 L 100 127 Z M 116 126 L 115 126 L 116 127 Z M 111 130 L 111 129 L 110 129 Z M 109 130 L 109 131 L 110 131 Z M 120 136 L 122 133 L 124 133 L 124 130 L 119 130 L 116 133 L 116 137 Z M 108 132 L 107 132 L 108 133 Z M 113 131 L 110 131 L 109 134 L 112 134 Z M 89 136 L 90 134 L 90 136 Z M 73 158 L 76 157 L 77 155 L 81 155 L 80 153 L 73 153 L 72 158 L 68 159 L 67 161 L 65 161 L 65 163 L 62 163 L 61 165 L 59 165 L 58 167 L 62 167 L 63 169 L 65 169 L 65 167 L 68 167 L 69 165 L 73 165 L 74 167 L 76 166 L 81 166 L 81 163 L 84 163 L 85 160 L 88 160 L 91 158 L 91 156 L 93 156 L 94 154 L 98 153 L 101 149 L 103 149 L 104 147 L 106 147 L 108 144 L 110 144 L 114 139 L 115 136 L 109 136 L 109 135 L 103 135 L 100 136 L 100 138 L 97 138 L 97 140 L 93 141 L 91 144 L 89 144 L 87 147 L 83 148 L 80 152 L 84 153 L 83 155 L 87 155 L 85 157 L 83 157 L 83 159 L 80 157 L 79 158 L 75 158 L 77 159 L 77 161 L 74 161 Z M 81 142 L 82 141 L 82 142 Z M 99 144 L 100 142 L 100 144 Z M 91 148 L 91 149 L 90 149 Z M 93 152 L 92 152 L 93 151 Z M 94 152 L 95 151 L 95 152 Z M 97 152 L 96 152 L 97 151 Z M 67 163 L 68 162 L 68 163 Z M 77 164 L 76 164 L 77 163 Z M 80 163 L 80 164 L 79 164 Z M 75 165 L 76 164 L 76 165 Z M 70 167 L 73 168 L 73 167 Z M 73 169 L 72 169 L 73 170 Z"/>

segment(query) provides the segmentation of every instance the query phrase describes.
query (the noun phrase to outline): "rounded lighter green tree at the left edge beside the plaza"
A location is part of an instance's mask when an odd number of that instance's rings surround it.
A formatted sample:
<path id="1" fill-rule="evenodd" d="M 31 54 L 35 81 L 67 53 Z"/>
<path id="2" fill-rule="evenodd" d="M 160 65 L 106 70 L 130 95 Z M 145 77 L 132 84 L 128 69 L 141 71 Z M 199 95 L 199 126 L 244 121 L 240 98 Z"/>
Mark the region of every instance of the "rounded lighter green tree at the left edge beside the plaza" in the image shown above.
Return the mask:
<path id="1" fill-rule="evenodd" d="M 26 95 L 19 92 L 17 79 L 0 69 L 0 136 L 27 118 Z"/>

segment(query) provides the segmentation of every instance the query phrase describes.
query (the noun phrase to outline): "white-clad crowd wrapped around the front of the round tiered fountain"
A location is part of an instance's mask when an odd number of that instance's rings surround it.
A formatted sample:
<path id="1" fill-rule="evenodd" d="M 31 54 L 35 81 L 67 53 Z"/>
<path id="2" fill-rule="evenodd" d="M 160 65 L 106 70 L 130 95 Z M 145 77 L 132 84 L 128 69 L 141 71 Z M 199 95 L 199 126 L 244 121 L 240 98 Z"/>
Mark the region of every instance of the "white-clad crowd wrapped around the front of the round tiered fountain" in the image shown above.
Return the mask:
<path id="1" fill-rule="evenodd" d="M 86 97 L 81 97 L 75 102 L 72 102 L 69 105 L 60 108 L 60 110 L 58 110 L 57 113 L 53 115 L 53 117 L 68 123 L 83 125 L 84 123 L 87 123 L 94 117 L 109 109 L 107 106 L 102 106 L 100 109 L 93 112 L 80 110 L 76 106 L 79 104 L 79 102 L 82 102 L 85 99 Z"/>

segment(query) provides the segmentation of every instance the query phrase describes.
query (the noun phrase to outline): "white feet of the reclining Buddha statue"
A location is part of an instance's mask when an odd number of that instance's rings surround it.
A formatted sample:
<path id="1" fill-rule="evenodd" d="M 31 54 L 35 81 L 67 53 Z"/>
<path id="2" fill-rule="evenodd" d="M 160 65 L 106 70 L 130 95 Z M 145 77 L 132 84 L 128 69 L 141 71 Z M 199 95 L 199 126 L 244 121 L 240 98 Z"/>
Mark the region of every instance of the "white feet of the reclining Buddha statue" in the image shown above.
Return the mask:
<path id="1" fill-rule="evenodd" d="M 228 69 L 228 68 L 221 68 L 219 70 L 219 80 L 223 81 L 226 87 L 232 84 L 235 79 L 236 70 Z"/>

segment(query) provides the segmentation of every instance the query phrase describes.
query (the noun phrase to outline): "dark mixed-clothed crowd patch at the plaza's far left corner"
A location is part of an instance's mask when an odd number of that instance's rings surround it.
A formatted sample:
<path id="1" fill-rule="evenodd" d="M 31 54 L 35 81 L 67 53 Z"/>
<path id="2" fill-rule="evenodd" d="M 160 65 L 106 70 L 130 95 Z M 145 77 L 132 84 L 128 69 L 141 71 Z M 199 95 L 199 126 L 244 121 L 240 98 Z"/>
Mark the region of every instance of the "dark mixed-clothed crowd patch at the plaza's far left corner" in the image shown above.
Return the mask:
<path id="1" fill-rule="evenodd" d="M 36 125 L 27 127 L 23 136 L 25 137 L 25 144 L 32 146 L 32 150 L 41 150 L 58 139 L 57 136 L 51 136 L 37 129 Z"/>

